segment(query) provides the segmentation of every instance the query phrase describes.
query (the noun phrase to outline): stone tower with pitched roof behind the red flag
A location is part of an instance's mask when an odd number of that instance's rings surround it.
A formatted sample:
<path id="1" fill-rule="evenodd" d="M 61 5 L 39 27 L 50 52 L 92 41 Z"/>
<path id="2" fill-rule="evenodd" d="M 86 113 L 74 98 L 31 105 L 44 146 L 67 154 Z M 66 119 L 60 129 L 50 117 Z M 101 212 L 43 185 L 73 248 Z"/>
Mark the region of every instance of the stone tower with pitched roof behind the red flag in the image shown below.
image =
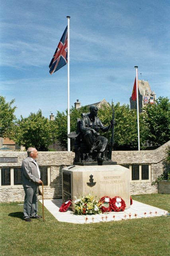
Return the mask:
<path id="1" fill-rule="evenodd" d="M 148 103 L 154 104 L 156 100 L 156 93 L 150 89 L 148 81 L 138 80 L 138 94 L 139 94 L 139 113 L 142 112 L 142 108 Z M 137 108 L 137 101 L 132 100 L 130 97 L 131 109 Z"/>

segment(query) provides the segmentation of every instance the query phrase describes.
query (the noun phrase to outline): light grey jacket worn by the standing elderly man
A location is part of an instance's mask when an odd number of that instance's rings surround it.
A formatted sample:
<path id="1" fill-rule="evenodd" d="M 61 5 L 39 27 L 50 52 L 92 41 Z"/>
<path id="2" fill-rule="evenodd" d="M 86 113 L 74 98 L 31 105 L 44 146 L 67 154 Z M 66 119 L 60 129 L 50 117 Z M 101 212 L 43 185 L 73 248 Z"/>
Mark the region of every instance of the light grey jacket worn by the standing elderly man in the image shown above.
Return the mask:
<path id="1" fill-rule="evenodd" d="M 39 182 L 37 166 L 31 157 L 23 160 L 22 166 L 22 183 L 24 187 L 35 187 Z"/>

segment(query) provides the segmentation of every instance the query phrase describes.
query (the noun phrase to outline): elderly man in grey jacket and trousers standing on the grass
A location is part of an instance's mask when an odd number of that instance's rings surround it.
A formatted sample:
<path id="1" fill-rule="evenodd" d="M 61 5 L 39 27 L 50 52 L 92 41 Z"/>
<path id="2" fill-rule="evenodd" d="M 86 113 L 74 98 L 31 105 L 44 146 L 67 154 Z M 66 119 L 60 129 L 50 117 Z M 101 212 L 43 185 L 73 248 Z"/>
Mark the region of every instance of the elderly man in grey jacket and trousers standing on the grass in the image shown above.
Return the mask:
<path id="1" fill-rule="evenodd" d="M 22 182 L 25 191 L 25 199 L 23 205 L 23 219 L 31 222 L 31 218 L 40 219 L 38 212 L 38 189 L 42 184 L 39 166 L 35 160 L 38 156 L 36 148 L 27 149 L 27 158 L 22 162 Z"/>

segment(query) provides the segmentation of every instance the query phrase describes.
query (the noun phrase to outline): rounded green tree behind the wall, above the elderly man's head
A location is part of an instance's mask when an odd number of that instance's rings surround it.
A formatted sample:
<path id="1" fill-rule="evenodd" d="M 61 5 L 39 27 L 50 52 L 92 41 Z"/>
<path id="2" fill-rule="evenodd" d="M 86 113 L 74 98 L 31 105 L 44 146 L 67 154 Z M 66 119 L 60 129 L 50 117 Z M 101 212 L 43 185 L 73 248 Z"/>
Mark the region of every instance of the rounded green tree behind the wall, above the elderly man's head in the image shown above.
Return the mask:
<path id="1" fill-rule="evenodd" d="M 42 116 L 41 110 L 31 113 L 27 118 L 18 120 L 15 141 L 26 149 L 30 146 L 39 151 L 47 151 L 56 140 L 57 123 Z"/>

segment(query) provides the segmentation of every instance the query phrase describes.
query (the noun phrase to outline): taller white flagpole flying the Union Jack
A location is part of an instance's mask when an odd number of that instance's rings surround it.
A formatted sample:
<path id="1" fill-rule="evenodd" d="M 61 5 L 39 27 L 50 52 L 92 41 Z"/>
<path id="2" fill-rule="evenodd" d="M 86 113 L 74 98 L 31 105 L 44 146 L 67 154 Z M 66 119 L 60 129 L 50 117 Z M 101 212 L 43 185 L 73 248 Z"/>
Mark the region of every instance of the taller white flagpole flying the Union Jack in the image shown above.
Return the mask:
<path id="1" fill-rule="evenodd" d="M 67 16 L 67 134 L 70 134 L 70 16 Z M 67 150 L 70 151 L 70 139 L 67 138 Z"/>

